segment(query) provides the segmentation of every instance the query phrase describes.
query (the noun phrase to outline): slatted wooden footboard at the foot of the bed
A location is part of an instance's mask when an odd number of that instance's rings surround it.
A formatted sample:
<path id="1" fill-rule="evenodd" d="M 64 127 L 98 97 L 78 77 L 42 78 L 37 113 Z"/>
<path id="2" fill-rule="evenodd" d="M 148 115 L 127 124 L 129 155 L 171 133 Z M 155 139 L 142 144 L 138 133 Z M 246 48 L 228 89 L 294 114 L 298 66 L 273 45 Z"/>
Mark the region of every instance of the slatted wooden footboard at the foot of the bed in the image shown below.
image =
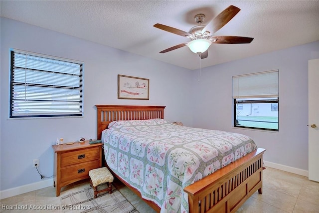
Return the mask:
<path id="1" fill-rule="evenodd" d="M 184 188 L 190 213 L 234 213 L 257 190 L 262 194 L 263 154 L 258 148 Z"/>

